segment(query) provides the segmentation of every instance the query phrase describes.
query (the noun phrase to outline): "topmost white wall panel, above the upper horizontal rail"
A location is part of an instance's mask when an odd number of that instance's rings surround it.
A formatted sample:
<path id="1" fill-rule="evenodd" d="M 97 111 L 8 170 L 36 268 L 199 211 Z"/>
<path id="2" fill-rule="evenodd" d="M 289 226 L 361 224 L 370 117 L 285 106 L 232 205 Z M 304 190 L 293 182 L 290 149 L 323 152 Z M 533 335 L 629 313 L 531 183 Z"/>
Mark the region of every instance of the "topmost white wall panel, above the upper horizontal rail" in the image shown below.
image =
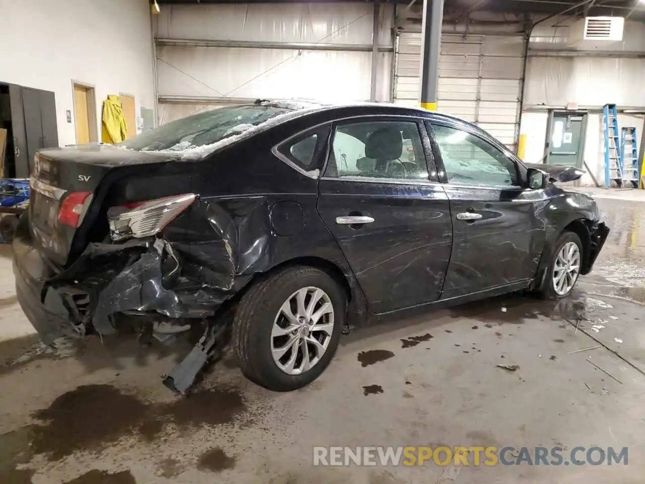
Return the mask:
<path id="1" fill-rule="evenodd" d="M 392 45 L 393 8 L 381 8 L 381 45 Z M 370 3 L 164 5 L 157 37 L 371 44 Z"/>

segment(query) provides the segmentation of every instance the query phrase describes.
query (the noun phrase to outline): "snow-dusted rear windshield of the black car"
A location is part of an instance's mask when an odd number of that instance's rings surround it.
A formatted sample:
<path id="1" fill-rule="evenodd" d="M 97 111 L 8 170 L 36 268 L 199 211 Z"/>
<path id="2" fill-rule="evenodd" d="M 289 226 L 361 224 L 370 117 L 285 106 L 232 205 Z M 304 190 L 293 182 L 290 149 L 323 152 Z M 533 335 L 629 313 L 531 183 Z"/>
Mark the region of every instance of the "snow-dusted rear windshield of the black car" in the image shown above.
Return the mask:
<path id="1" fill-rule="evenodd" d="M 241 134 L 291 110 L 275 106 L 231 106 L 177 119 L 119 143 L 139 151 L 188 150 Z"/>

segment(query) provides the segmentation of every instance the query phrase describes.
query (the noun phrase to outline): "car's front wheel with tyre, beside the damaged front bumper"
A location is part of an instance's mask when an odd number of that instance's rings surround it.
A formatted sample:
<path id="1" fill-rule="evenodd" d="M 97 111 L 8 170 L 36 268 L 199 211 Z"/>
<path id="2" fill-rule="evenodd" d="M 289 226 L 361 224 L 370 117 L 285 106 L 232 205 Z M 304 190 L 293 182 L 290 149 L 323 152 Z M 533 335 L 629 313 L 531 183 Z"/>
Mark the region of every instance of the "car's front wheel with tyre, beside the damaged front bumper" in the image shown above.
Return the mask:
<path id="1" fill-rule="evenodd" d="M 546 276 L 538 292 L 548 299 L 561 299 L 571 294 L 582 267 L 582 241 L 574 232 L 562 232 Z"/>

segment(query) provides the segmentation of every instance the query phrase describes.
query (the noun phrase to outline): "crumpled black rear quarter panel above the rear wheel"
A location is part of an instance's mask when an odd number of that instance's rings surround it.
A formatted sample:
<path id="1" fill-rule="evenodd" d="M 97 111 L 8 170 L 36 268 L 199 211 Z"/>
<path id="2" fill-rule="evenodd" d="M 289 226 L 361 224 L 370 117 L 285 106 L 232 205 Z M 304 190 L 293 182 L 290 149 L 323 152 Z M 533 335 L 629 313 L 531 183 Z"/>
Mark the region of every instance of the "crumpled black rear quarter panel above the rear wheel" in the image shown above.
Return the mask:
<path id="1" fill-rule="evenodd" d="M 336 265 L 348 279 L 352 297 L 362 298 L 317 213 L 317 180 L 271 153 L 271 146 L 287 136 L 269 130 L 257 135 L 253 146 L 224 148 L 193 165 L 192 192 L 199 200 L 172 224 L 186 243 L 184 271 L 235 294 L 257 274 L 315 257 Z"/>

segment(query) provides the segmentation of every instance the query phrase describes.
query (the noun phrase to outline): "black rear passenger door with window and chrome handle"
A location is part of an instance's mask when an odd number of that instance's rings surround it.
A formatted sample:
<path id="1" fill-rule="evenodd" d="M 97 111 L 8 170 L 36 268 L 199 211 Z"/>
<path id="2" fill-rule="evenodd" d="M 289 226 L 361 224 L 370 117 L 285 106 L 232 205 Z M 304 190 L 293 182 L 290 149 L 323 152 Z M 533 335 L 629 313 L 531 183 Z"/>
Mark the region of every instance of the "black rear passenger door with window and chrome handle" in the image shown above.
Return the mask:
<path id="1" fill-rule="evenodd" d="M 452 223 L 441 184 L 428 176 L 424 126 L 410 118 L 357 118 L 335 124 L 332 136 L 317 208 L 370 310 L 439 299 Z"/>

